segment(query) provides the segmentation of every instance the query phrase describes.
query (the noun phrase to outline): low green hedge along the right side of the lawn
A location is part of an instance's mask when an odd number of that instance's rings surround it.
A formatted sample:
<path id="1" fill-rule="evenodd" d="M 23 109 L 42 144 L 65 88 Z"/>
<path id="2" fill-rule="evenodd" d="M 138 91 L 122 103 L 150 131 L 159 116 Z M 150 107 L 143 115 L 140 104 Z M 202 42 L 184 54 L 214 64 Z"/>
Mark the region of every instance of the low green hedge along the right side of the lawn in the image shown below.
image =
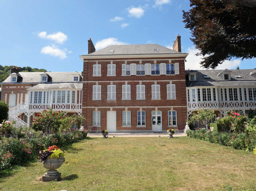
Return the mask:
<path id="1" fill-rule="evenodd" d="M 231 146 L 235 149 L 247 150 L 249 152 L 253 152 L 256 146 L 256 137 L 255 135 L 247 135 L 247 134 L 235 134 L 235 133 L 227 133 L 227 132 L 210 132 L 205 129 L 199 130 L 188 130 L 188 137 L 194 139 L 200 139 L 204 141 L 208 141 L 211 143 L 223 145 L 223 146 Z"/>

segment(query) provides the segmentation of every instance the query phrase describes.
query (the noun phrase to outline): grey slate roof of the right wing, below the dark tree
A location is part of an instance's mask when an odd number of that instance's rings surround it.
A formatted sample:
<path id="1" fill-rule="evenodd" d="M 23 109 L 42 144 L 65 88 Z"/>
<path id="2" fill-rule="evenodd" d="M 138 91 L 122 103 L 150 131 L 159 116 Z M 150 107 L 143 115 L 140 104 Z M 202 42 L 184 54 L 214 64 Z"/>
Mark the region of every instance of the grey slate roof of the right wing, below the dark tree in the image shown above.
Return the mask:
<path id="1" fill-rule="evenodd" d="M 230 72 L 231 80 L 223 80 L 219 73 Z M 196 81 L 186 81 L 187 87 L 195 86 L 256 86 L 256 77 L 250 75 L 254 69 L 231 69 L 231 70 L 193 70 L 196 73 Z M 188 74 L 189 71 L 186 71 Z M 203 76 L 210 78 L 204 78 Z M 241 78 L 236 78 L 240 75 Z"/>

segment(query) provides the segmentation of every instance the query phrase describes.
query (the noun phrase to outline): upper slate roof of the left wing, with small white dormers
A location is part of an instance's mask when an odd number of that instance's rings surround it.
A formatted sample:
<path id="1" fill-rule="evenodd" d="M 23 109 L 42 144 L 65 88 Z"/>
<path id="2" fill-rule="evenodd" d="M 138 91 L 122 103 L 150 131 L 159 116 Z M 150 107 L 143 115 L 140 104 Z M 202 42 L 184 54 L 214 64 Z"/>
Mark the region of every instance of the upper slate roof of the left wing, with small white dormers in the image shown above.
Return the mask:
<path id="1" fill-rule="evenodd" d="M 47 73 L 51 78 L 48 82 L 41 82 L 40 74 Z M 22 78 L 17 83 L 60 83 L 74 82 L 73 74 L 82 76 L 82 72 L 20 72 Z M 2 83 L 10 83 L 11 76 L 8 76 Z"/>

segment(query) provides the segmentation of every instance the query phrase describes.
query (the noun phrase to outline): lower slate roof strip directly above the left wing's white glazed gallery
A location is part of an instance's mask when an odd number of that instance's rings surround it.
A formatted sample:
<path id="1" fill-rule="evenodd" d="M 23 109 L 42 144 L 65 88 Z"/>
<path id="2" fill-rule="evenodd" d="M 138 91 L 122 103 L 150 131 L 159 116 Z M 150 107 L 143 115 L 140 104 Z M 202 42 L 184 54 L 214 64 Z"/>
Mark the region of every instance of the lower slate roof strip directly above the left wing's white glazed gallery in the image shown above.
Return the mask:
<path id="1" fill-rule="evenodd" d="M 82 83 L 47 83 L 38 84 L 27 90 L 37 90 L 37 89 L 83 89 Z"/>

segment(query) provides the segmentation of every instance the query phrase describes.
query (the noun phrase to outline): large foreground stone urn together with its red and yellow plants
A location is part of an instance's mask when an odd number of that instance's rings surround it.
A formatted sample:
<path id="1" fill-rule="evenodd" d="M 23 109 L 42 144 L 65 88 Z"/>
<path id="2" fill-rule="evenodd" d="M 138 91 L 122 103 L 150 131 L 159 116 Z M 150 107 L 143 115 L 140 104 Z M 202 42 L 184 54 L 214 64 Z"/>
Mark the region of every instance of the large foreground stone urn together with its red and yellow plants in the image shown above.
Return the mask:
<path id="1" fill-rule="evenodd" d="M 46 150 L 40 150 L 39 158 L 42 161 L 43 167 L 49 169 L 42 177 L 43 182 L 60 180 L 60 175 L 56 169 L 60 168 L 62 163 L 65 162 L 65 152 L 56 145 L 49 146 Z"/>

